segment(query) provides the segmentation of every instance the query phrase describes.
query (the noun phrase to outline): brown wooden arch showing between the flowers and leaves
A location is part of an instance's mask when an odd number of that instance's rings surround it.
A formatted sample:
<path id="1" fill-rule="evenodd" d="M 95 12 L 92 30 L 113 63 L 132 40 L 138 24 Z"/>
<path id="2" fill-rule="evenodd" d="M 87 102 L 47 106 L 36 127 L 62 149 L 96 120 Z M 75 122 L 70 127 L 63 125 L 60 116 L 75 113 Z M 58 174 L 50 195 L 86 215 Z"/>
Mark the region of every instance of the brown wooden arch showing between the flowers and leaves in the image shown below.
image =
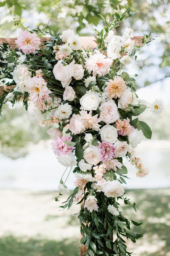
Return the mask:
<path id="1" fill-rule="evenodd" d="M 90 49 L 94 49 L 96 47 L 95 37 L 81 36 L 80 38 L 81 38 L 82 45 L 84 48 L 87 48 L 88 46 L 90 46 Z M 0 44 L 2 44 L 2 42 L 5 42 L 5 43 L 10 44 L 10 46 L 12 48 L 14 48 L 16 46 L 15 40 L 16 40 L 16 38 L 0 38 Z M 50 37 L 42 37 L 41 38 L 41 42 L 45 42 L 48 40 L 50 40 Z M 134 36 L 132 38 L 132 40 L 134 42 L 136 42 L 136 44 L 138 46 L 140 46 L 142 44 L 142 36 Z M 5 90 L 5 87 L 0 85 L 0 96 L 2 94 L 2 89 Z M 81 256 L 84 256 L 84 255 L 85 255 L 85 249 L 83 247 L 81 247 Z"/>

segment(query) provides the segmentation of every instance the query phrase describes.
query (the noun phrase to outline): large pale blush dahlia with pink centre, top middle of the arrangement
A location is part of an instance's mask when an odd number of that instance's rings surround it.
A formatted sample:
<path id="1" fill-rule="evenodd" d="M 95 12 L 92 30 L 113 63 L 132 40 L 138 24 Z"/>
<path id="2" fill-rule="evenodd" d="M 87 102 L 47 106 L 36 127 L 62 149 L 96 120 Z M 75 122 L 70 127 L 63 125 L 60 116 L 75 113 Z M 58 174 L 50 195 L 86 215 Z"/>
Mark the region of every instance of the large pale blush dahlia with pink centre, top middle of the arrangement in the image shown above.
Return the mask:
<path id="1" fill-rule="evenodd" d="M 100 51 L 96 50 L 95 54 L 90 53 L 89 59 L 86 58 L 85 68 L 89 74 L 93 71 L 93 76 L 105 76 L 112 65 L 112 59 L 106 58 Z"/>

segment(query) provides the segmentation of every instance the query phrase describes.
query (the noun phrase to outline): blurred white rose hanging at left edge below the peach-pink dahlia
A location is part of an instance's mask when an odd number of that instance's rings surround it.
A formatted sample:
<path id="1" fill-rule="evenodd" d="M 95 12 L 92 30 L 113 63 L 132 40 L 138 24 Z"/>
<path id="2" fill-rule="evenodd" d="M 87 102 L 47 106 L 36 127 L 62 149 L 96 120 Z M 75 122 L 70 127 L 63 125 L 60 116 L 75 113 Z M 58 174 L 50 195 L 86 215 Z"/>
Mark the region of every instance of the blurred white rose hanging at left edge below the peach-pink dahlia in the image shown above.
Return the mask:
<path id="1" fill-rule="evenodd" d="M 33 123 L 39 124 L 42 122 L 43 116 L 42 116 L 41 110 L 39 108 L 37 108 L 35 105 L 33 105 L 32 103 L 30 103 L 28 105 L 27 113 L 28 113 L 30 120 Z"/>

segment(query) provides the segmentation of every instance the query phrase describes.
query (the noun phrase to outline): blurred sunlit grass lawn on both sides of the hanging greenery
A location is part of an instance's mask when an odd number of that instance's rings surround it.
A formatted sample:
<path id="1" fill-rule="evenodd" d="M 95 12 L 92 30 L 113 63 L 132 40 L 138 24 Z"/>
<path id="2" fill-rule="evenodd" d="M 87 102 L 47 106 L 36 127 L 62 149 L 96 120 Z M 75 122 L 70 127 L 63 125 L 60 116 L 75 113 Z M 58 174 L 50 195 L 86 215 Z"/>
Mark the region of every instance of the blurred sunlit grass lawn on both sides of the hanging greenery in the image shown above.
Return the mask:
<path id="1" fill-rule="evenodd" d="M 1 191 L 0 256 L 78 256 L 79 208 L 58 211 L 54 192 Z M 136 244 L 127 241 L 133 256 L 170 256 L 170 188 L 127 190 L 137 203 L 123 206 L 129 219 L 143 222 L 133 230 L 145 233 Z"/>

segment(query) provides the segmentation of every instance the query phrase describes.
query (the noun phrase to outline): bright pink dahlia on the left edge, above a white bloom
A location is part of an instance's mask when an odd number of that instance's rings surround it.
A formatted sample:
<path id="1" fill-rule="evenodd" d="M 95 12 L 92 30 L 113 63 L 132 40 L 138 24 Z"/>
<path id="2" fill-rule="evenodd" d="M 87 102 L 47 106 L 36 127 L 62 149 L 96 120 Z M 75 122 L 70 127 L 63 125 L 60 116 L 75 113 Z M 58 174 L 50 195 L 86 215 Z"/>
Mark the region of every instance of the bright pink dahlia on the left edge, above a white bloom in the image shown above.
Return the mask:
<path id="1" fill-rule="evenodd" d="M 52 143 L 52 150 L 57 156 L 64 156 L 72 154 L 75 147 L 71 147 L 64 142 L 71 142 L 72 137 L 58 137 Z"/>

